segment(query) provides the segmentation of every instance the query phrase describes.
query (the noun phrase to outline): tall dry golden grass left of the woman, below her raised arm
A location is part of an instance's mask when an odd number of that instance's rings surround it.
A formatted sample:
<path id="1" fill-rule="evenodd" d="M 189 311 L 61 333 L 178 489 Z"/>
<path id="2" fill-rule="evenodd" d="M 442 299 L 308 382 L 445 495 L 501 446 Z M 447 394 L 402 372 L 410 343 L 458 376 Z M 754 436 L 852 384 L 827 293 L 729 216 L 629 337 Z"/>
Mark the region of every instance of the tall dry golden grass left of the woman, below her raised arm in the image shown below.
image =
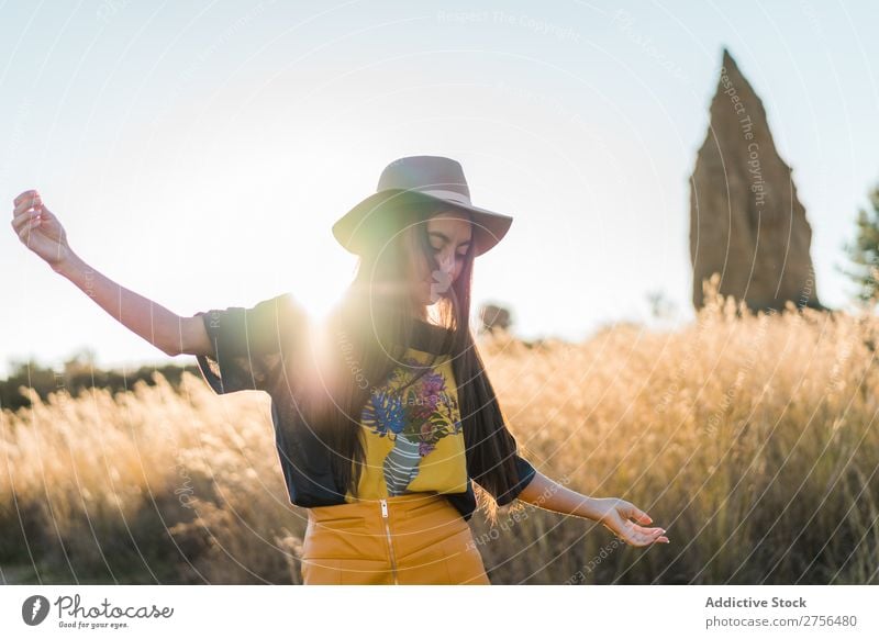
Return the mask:
<path id="1" fill-rule="evenodd" d="M 0 565 L 38 583 L 279 583 L 299 579 L 269 400 L 135 384 L 2 415 Z M 12 576 L 10 578 L 10 572 Z"/>

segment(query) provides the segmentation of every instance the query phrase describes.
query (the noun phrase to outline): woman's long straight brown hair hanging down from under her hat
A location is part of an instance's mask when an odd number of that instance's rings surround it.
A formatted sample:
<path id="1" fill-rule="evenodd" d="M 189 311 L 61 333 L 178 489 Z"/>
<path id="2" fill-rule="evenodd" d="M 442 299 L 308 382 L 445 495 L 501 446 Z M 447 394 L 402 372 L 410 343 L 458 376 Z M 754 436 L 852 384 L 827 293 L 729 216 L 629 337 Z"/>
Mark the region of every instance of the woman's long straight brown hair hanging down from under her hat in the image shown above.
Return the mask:
<path id="1" fill-rule="evenodd" d="M 385 212 L 386 220 L 400 221 L 396 232 L 385 234 L 374 249 L 359 256 L 354 281 L 320 332 L 311 336 L 316 368 L 308 375 L 309 383 L 300 386 L 299 403 L 330 450 L 335 484 L 343 494 L 357 495 L 363 471 L 361 411 L 372 389 L 381 386 L 394 367 L 404 367 L 401 360 L 416 329 L 420 313 L 411 293 L 412 258 L 423 256 L 431 272 L 439 269 L 426 221 L 447 210 L 442 203 L 416 200 Z M 479 469 L 479 475 L 471 477 L 485 491 L 475 490 L 494 519 L 494 497 L 511 490 L 519 477 L 515 440 L 505 428 L 469 325 L 475 246 L 471 242 L 458 278 L 436 291 L 439 324 L 430 333 L 431 350 L 452 356 L 467 466 Z M 429 372 L 431 363 L 409 383 Z"/>

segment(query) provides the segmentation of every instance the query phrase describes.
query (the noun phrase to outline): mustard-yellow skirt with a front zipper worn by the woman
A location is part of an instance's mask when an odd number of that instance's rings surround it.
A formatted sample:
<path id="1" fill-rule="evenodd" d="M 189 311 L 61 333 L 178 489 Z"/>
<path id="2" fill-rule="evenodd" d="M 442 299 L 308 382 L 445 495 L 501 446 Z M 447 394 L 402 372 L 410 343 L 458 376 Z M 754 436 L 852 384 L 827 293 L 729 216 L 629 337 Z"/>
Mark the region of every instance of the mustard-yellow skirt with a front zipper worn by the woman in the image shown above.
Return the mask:
<path id="1" fill-rule="evenodd" d="M 470 526 L 443 495 L 308 508 L 305 584 L 489 585 Z"/>

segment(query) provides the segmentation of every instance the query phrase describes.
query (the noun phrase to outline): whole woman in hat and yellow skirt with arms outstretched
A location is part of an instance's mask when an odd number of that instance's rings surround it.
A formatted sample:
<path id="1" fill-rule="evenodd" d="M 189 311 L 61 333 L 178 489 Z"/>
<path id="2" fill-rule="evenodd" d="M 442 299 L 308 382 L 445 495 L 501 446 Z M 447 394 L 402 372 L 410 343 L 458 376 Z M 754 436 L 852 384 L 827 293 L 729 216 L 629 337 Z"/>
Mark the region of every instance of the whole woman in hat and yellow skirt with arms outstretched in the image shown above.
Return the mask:
<path id="1" fill-rule="evenodd" d="M 633 504 L 566 489 L 518 453 L 468 322 L 474 259 L 511 222 L 470 203 L 455 160 L 391 162 L 333 227 L 359 262 L 321 323 L 290 294 L 178 316 L 89 268 L 35 191 L 15 199 L 12 226 L 131 330 L 194 355 L 216 393 L 270 395 L 290 501 L 309 514 L 304 583 L 488 584 L 474 482 L 491 519 L 518 498 L 633 546 L 668 542 Z"/>

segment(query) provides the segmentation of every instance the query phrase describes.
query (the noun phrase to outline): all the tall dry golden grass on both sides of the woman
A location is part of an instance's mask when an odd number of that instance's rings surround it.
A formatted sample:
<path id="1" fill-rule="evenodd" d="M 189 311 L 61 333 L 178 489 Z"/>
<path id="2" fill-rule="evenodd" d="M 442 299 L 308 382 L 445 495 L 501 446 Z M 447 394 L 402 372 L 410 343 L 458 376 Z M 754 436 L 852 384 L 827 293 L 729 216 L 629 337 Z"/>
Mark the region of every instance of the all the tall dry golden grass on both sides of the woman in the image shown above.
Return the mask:
<path id="1" fill-rule="evenodd" d="M 474 535 L 493 583 L 879 583 L 879 368 L 868 316 L 737 316 L 582 344 L 501 334 L 482 352 L 523 455 L 668 530 L 632 548 L 525 505 Z M 63 391 L 0 423 L 2 579 L 298 583 L 258 393 L 185 377 L 115 397 Z"/>

